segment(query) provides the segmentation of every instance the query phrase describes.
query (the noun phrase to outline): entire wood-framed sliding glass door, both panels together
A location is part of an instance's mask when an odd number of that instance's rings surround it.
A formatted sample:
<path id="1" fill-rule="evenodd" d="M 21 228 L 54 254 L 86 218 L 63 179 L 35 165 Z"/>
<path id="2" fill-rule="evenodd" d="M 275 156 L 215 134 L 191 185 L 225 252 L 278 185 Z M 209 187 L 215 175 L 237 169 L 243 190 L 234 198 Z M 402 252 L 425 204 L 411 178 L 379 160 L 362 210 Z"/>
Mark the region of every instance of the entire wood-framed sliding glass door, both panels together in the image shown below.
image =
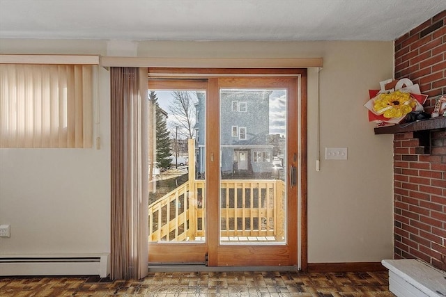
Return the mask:
<path id="1" fill-rule="evenodd" d="M 149 263 L 298 264 L 298 79 L 149 79 Z"/>

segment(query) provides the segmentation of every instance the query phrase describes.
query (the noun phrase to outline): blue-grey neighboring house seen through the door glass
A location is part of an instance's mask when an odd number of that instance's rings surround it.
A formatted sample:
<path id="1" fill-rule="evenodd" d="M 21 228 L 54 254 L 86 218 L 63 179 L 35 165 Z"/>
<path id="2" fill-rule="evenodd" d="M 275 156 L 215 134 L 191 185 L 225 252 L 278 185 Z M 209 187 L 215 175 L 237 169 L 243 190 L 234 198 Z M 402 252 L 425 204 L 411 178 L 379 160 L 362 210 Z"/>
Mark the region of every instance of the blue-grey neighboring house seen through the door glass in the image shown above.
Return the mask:
<path id="1" fill-rule="evenodd" d="M 273 145 L 269 137 L 272 91 L 222 90 L 220 170 L 222 176 L 270 177 Z M 197 103 L 197 172 L 204 168 L 204 97 Z"/>

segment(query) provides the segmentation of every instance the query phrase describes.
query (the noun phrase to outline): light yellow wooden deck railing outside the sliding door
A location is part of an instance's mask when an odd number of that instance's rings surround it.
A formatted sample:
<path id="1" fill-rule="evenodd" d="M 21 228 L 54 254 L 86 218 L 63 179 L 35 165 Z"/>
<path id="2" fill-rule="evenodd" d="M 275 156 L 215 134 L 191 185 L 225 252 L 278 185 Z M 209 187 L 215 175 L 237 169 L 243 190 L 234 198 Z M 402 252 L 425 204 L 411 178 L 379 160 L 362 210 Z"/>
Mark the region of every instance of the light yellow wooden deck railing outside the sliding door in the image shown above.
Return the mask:
<path id="1" fill-rule="evenodd" d="M 192 179 L 149 205 L 149 241 L 204 236 L 205 184 Z M 282 180 L 222 179 L 220 191 L 221 236 L 284 236 Z"/>

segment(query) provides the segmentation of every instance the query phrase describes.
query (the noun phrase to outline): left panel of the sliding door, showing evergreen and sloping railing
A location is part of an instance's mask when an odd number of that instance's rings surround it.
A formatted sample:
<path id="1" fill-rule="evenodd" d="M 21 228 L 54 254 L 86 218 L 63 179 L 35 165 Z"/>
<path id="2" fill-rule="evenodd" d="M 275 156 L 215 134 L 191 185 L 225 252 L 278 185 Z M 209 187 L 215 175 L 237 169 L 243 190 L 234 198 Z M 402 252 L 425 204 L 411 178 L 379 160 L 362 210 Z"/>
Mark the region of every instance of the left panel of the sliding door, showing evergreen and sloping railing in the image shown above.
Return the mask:
<path id="1" fill-rule="evenodd" d="M 149 80 L 148 259 L 204 264 L 206 84 L 176 89 L 171 83 Z"/>

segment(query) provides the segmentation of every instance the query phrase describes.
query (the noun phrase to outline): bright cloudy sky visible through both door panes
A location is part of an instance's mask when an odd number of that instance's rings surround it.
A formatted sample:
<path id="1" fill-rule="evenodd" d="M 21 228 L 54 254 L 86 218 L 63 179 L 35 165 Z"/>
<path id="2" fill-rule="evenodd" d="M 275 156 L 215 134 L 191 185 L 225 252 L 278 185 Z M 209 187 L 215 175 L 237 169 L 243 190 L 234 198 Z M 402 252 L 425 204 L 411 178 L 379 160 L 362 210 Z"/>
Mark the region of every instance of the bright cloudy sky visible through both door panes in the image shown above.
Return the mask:
<path id="1" fill-rule="evenodd" d="M 168 113 L 167 127 L 173 132 L 176 127 L 175 118 L 171 115 L 169 105 L 172 104 L 171 90 L 155 90 L 160 107 Z M 273 90 L 270 95 L 270 134 L 285 135 L 286 129 L 286 90 Z"/>

